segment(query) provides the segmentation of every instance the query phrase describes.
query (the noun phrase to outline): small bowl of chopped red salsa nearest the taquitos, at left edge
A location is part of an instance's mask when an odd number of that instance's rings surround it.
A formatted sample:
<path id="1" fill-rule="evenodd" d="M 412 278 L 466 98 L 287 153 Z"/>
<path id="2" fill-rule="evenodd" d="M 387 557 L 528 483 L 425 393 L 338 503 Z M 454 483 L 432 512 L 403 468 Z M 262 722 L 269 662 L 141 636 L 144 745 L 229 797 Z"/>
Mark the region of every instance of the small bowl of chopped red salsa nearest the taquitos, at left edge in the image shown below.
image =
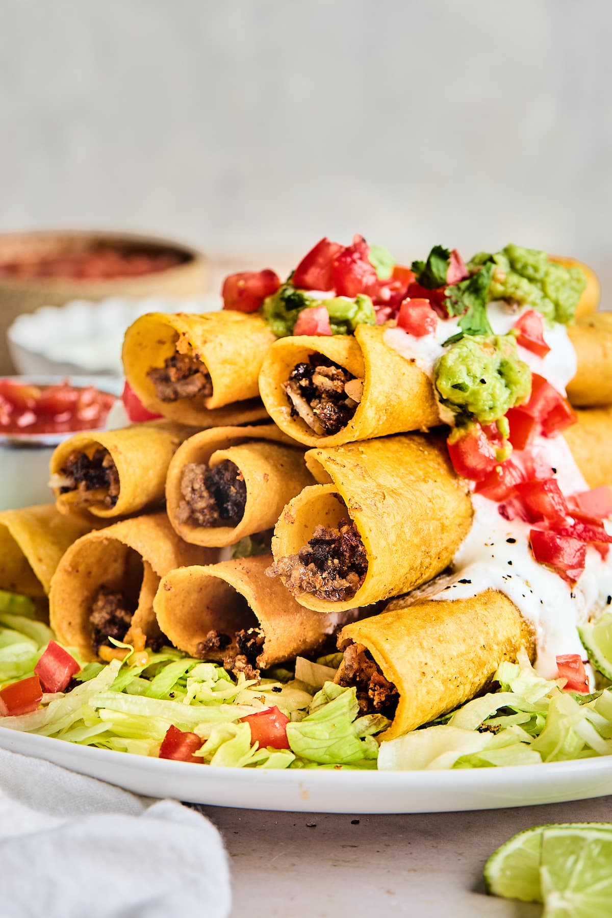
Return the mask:
<path id="1" fill-rule="evenodd" d="M 120 387 L 95 376 L 0 378 L 0 509 L 52 500 L 51 453 L 72 433 L 104 428 Z"/>

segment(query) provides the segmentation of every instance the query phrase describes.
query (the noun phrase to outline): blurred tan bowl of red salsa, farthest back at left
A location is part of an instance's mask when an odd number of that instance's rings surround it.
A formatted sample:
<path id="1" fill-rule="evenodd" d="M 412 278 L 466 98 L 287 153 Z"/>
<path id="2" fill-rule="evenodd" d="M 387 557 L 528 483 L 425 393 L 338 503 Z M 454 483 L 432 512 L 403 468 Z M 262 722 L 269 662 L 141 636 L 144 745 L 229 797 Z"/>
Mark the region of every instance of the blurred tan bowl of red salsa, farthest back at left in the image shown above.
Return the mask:
<path id="1" fill-rule="evenodd" d="M 0 373 L 11 371 L 4 335 L 20 313 L 72 299 L 199 297 L 206 257 L 150 236 L 71 230 L 0 234 Z"/>

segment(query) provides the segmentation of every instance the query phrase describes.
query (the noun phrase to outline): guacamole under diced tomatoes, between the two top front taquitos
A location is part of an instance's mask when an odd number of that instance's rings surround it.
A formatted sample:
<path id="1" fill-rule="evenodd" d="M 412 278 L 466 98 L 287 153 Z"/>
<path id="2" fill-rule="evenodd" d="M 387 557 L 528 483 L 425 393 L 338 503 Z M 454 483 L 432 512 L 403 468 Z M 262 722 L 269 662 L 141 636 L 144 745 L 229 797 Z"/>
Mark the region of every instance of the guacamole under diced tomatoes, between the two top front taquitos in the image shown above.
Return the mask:
<path id="1" fill-rule="evenodd" d="M 263 318 L 277 338 L 293 333 L 295 322 L 302 309 L 324 306 L 329 313 L 329 325 L 335 335 L 350 335 L 360 324 L 375 325 L 376 313 L 370 297 L 358 296 L 317 299 L 307 290 L 298 290 L 290 284 L 279 287 L 272 297 L 263 301 Z"/>

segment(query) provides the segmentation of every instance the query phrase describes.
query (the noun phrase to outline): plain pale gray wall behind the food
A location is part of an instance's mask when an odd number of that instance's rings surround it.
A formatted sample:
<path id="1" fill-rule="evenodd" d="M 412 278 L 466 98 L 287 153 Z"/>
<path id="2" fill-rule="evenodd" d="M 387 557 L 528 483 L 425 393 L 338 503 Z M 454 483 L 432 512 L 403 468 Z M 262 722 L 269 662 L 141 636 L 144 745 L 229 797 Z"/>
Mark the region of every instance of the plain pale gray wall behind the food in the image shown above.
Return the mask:
<path id="1" fill-rule="evenodd" d="M 611 39 L 609 0 L 0 0 L 0 229 L 605 273 Z"/>

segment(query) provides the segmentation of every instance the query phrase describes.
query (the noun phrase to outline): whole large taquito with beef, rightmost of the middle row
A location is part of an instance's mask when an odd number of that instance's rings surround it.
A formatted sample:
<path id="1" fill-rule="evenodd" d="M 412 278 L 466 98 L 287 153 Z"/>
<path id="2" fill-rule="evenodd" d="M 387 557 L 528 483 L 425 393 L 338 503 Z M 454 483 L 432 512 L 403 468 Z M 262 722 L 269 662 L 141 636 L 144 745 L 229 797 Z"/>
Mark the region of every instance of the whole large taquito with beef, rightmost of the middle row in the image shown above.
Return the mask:
<path id="1" fill-rule="evenodd" d="M 440 573 L 472 522 L 468 484 L 435 436 L 397 435 L 310 450 L 320 484 L 285 507 L 274 567 L 319 612 L 397 596 Z"/>

